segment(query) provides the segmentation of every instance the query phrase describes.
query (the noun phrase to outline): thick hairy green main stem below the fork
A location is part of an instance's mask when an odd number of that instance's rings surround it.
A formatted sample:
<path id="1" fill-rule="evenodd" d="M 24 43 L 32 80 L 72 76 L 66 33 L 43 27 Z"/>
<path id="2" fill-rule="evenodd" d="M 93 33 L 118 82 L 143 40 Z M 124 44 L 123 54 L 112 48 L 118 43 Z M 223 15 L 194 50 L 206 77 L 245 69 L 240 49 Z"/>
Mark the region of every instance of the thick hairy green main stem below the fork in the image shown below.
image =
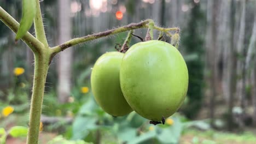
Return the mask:
<path id="1" fill-rule="evenodd" d="M 30 107 L 30 122 L 28 124 L 27 144 L 38 143 L 44 86 L 50 61 L 50 54 L 47 53 L 48 50 L 40 53 L 39 55 L 34 55 L 34 81 Z"/>

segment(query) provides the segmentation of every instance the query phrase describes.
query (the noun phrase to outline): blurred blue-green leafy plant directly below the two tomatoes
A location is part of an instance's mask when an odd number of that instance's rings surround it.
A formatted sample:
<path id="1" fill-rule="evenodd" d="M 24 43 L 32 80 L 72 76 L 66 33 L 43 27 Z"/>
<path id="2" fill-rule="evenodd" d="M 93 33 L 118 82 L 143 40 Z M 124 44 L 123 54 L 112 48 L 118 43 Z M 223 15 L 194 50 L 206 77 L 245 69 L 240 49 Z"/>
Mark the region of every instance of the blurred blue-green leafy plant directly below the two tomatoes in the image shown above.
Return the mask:
<path id="1" fill-rule="evenodd" d="M 95 142 L 96 133 L 100 133 L 102 143 L 178 143 L 185 123 L 179 115 L 172 119 L 172 125 L 152 125 L 134 111 L 124 117 L 112 117 L 96 104 L 91 95 L 75 117 L 71 140 Z M 70 131 L 67 133 L 70 135 Z"/>

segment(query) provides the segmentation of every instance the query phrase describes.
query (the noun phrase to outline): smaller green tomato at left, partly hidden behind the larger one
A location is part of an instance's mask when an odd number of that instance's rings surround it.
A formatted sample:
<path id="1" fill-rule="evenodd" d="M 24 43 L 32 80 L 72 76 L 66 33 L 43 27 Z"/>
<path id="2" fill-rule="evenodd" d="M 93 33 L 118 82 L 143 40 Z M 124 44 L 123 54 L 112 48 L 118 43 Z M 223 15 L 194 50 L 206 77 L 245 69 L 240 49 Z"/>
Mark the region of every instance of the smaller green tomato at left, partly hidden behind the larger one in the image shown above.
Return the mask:
<path id="1" fill-rule="evenodd" d="M 124 53 L 107 52 L 97 59 L 91 73 L 91 88 L 97 104 L 112 116 L 131 111 L 120 88 L 119 70 Z"/>

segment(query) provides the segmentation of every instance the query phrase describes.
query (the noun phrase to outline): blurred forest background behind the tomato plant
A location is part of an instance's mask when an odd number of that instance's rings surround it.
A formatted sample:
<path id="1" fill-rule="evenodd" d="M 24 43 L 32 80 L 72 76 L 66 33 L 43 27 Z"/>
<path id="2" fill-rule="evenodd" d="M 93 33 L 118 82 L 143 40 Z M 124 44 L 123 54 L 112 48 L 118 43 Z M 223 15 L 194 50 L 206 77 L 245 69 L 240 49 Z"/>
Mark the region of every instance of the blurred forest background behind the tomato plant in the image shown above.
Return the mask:
<path id="1" fill-rule="evenodd" d="M 135 112 L 117 118 L 108 115 L 91 93 L 93 64 L 104 52 L 122 45 L 127 32 L 65 50 L 50 65 L 40 143 L 256 143 L 256 1 L 44 0 L 40 4 L 50 46 L 145 19 L 161 27 L 179 27 L 179 51 L 189 70 L 181 109 L 165 125 L 150 125 Z M 1 0 L 0 5 L 20 21 L 21 1 Z M 34 34 L 34 29 L 30 32 Z M 146 32 L 137 29 L 135 34 L 144 38 Z M 159 33 L 154 34 L 156 38 Z M 16 133 L 24 134 L 16 136 L 8 131 L 28 124 L 33 54 L 14 39 L 15 34 L 0 22 L 0 143 L 26 141 L 24 131 L 19 129 Z M 132 44 L 138 42 L 133 37 Z"/>

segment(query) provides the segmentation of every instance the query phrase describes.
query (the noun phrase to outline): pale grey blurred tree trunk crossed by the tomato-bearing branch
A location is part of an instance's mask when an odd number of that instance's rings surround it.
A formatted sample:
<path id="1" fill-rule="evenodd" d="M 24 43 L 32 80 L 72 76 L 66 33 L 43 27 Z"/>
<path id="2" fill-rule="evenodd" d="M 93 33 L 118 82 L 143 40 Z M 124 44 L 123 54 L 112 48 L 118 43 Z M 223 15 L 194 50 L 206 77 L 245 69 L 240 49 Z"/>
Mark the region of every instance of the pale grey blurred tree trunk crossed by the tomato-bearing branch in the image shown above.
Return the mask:
<path id="1" fill-rule="evenodd" d="M 71 39 L 71 17 L 69 0 L 59 0 L 59 43 Z M 65 103 L 71 91 L 71 64 L 72 49 L 67 49 L 61 53 L 58 62 L 58 99 L 60 103 Z"/>

